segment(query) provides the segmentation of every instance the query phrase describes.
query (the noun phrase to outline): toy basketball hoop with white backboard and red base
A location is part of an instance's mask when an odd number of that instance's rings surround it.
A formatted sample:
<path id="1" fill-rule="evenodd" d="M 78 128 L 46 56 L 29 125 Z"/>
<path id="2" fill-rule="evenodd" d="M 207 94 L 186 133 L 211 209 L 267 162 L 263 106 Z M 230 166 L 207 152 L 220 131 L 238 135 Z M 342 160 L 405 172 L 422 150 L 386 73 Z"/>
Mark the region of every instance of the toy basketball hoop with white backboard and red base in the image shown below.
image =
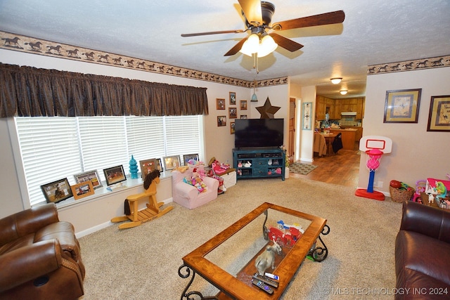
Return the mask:
<path id="1" fill-rule="evenodd" d="M 359 150 L 366 152 L 366 167 L 369 171 L 367 190 L 359 188 L 355 195 L 375 200 L 385 200 L 383 193 L 373 190 L 375 171 L 380 167 L 381 157 L 392 150 L 392 140 L 385 136 L 364 136 L 359 141 Z"/>

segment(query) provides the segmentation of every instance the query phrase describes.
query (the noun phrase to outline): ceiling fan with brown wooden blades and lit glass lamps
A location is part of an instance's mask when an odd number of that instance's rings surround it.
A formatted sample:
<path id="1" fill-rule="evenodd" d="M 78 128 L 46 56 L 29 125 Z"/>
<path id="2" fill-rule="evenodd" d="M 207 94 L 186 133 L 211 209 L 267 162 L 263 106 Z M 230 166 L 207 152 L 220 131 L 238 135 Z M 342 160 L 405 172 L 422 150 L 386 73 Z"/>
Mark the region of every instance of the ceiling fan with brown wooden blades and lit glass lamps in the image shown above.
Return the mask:
<path id="1" fill-rule="evenodd" d="M 319 25 L 338 24 L 344 22 L 345 13 L 343 11 L 333 11 L 320 15 L 310 15 L 309 17 L 297 18 L 275 22 L 271 25 L 275 6 L 266 1 L 260 0 L 238 0 L 245 17 L 245 30 L 224 30 L 215 32 L 199 32 L 191 34 L 181 34 L 181 37 L 195 37 L 208 34 L 226 34 L 250 32 L 249 37 L 241 39 L 224 56 L 233 56 L 239 51 L 248 56 L 257 53 L 257 57 L 263 57 L 275 51 L 277 46 L 281 46 L 290 52 L 294 52 L 303 47 L 292 39 L 283 37 L 276 33 L 281 30 L 292 30 L 302 27 L 312 27 Z M 269 32 L 271 31 L 271 32 Z M 262 48 L 264 46 L 264 48 Z"/>

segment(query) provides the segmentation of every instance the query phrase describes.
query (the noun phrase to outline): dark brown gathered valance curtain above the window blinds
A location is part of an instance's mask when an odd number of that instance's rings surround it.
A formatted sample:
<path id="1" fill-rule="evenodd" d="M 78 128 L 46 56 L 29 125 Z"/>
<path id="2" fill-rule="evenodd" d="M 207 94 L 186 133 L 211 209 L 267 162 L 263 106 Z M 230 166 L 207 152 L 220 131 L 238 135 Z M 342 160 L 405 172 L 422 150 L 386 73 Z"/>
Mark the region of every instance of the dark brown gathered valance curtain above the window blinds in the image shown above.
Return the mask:
<path id="1" fill-rule="evenodd" d="M 0 117 L 207 114 L 206 88 L 0 63 Z"/>

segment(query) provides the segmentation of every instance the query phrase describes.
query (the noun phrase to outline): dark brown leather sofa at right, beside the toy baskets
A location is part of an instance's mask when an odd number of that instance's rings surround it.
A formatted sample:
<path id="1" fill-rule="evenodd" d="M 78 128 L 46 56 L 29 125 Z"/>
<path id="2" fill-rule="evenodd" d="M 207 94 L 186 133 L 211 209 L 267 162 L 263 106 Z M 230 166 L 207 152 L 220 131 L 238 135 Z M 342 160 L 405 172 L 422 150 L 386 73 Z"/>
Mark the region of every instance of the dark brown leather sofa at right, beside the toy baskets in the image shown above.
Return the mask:
<path id="1" fill-rule="evenodd" d="M 403 203 L 395 273 L 395 299 L 449 299 L 450 211 Z"/>

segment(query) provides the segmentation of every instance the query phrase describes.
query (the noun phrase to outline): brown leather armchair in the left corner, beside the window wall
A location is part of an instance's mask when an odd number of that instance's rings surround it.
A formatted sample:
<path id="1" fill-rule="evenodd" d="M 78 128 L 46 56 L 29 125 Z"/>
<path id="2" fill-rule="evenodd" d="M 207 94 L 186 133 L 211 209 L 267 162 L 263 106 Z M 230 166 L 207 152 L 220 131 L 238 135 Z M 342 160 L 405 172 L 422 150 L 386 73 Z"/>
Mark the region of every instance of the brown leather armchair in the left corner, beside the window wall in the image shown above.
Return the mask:
<path id="1" fill-rule="evenodd" d="M 77 299 L 84 273 L 74 228 L 55 204 L 0 220 L 0 299 Z"/>

